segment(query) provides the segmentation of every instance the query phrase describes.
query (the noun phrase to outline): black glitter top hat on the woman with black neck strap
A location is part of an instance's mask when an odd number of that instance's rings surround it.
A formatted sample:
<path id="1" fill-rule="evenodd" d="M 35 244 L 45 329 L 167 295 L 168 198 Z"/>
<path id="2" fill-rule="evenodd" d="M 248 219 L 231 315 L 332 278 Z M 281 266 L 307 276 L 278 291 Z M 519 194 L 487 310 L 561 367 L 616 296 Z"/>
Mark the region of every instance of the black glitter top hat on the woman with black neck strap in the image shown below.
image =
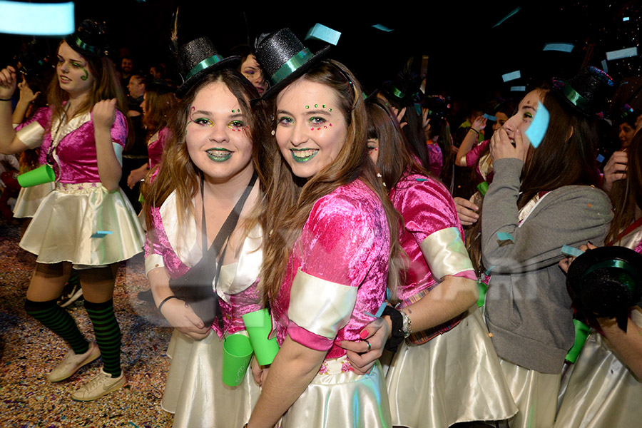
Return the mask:
<path id="1" fill-rule="evenodd" d="M 178 66 L 184 82 L 176 90 L 176 96 L 183 98 L 192 86 L 209 73 L 224 68 L 237 68 L 240 62 L 240 56 L 223 58 L 207 37 L 188 41 L 178 48 Z"/>

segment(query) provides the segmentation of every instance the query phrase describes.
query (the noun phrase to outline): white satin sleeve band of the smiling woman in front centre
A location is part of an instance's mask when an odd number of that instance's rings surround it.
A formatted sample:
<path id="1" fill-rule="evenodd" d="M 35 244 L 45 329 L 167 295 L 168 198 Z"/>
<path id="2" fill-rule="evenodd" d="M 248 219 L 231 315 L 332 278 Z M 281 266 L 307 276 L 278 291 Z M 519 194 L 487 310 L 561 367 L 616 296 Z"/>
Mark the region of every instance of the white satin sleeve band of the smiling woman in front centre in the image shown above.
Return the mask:
<path id="1" fill-rule="evenodd" d="M 357 287 L 336 284 L 298 270 L 290 290 L 287 317 L 299 327 L 327 339 L 350 321 Z"/>

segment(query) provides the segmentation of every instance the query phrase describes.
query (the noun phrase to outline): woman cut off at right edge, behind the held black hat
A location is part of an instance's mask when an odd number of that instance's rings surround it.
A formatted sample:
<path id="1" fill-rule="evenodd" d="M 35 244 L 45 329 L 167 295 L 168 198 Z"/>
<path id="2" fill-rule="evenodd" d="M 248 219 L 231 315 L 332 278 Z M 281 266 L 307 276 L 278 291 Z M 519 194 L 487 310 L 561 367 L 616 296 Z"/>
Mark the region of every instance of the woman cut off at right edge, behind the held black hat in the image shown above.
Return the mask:
<path id="1" fill-rule="evenodd" d="M 615 217 L 606 245 L 642 253 L 642 133 L 628 147 L 626 178 L 613 184 Z M 594 248 L 593 245 L 588 245 Z M 581 250 L 587 250 L 582 246 Z M 566 270 L 571 260 L 562 260 Z M 638 287 L 640 285 L 638 284 Z M 642 420 L 642 308 L 631 307 L 626 332 L 598 317 L 566 385 L 555 427 L 635 427 Z M 599 330 L 597 329 L 599 327 Z"/>

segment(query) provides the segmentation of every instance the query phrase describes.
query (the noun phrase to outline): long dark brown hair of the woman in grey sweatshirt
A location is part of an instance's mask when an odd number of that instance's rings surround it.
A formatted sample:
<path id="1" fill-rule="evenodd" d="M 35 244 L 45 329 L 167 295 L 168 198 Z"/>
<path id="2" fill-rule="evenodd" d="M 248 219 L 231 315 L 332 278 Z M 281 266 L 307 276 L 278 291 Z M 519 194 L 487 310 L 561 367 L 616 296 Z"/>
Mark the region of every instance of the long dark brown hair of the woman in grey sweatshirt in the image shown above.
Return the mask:
<path id="1" fill-rule="evenodd" d="M 539 147 L 530 146 L 526 155 L 521 171 L 521 194 L 517 198 L 518 210 L 540 192 L 550 192 L 565 185 L 599 185 L 595 161 L 596 121 L 576 113 L 549 88 L 539 88 L 539 91 L 551 118 Z M 482 210 L 467 240 L 472 263 L 478 272 L 484 270 L 481 263 Z"/>

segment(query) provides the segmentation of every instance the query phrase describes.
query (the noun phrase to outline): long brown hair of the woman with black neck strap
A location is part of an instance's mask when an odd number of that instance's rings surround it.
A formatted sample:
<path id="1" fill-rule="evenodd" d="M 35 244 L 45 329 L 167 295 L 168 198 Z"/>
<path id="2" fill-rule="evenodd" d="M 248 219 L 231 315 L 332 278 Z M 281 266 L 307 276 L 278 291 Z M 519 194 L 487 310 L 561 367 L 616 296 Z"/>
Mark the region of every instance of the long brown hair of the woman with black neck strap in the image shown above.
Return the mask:
<path id="1" fill-rule="evenodd" d="M 243 118 L 248 124 L 248 131 L 253 143 L 252 160 L 254 168 L 258 173 L 261 185 L 265 185 L 267 177 L 263 173 L 267 168 L 265 161 L 267 156 L 263 151 L 262 141 L 265 141 L 265 130 L 267 121 L 265 113 L 260 110 L 250 108 L 250 99 L 258 98 L 258 93 L 252 83 L 243 77 L 238 71 L 222 70 L 210 73 L 190 88 L 188 93 L 178 103 L 176 114 L 170 118 L 169 128 L 171 137 L 169 138 L 164 150 L 163 158 L 158 170 L 158 175 L 150 183 L 153 174 L 147 176 L 145 183 L 141 186 L 143 193 L 143 210 L 148 225 L 153 224 L 151 216 L 151 207 L 160 207 L 168 196 L 176 192 L 176 201 L 178 208 L 178 222 L 183 223 L 185 211 L 190 210 L 193 213 L 194 205 L 192 203 L 200 185 L 200 170 L 193 163 L 188 153 L 187 144 L 185 143 L 185 131 L 189 121 L 190 107 L 194 102 L 196 94 L 201 88 L 211 83 L 225 83 L 225 86 L 238 99 Z M 265 190 L 265 189 L 263 189 Z M 248 225 L 251 228 L 251 225 Z"/>

